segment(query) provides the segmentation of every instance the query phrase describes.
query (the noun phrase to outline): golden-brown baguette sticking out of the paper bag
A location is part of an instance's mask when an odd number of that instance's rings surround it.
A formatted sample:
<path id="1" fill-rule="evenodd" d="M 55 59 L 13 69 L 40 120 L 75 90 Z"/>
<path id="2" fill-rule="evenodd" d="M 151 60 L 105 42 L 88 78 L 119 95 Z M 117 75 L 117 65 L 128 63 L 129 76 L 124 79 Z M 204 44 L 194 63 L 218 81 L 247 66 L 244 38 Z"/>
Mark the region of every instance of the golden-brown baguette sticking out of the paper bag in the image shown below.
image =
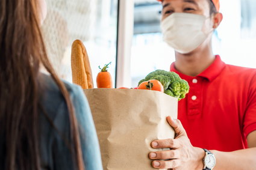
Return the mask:
<path id="1" fill-rule="evenodd" d="M 93 88 L 92 69 L 86 47 L 80 40 L 72 44 L 71 52 L 72 81 L 83 89 Z"/>

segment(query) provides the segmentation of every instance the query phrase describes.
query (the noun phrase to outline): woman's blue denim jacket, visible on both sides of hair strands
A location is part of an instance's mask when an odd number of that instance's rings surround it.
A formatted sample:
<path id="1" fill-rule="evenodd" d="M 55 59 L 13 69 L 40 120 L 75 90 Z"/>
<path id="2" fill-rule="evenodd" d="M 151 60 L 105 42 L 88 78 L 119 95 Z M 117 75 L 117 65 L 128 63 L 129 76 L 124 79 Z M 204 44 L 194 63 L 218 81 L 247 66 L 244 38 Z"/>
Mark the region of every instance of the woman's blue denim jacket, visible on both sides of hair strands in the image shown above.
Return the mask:
<path id="1" fill-rule="evenodd" d="M 42 75 L 43 96 L 40 114 L 40 151 L 42 169 L 72 170 L 68 149 L 70 140 L 69 113 L 66 102 L 50 76 Z M 89 104 L 83 90 L 64 82 L 69 91 L 76 118 L 80 124 L 81 148 L 86 170 L 101 170 L 101 154 Z"/>

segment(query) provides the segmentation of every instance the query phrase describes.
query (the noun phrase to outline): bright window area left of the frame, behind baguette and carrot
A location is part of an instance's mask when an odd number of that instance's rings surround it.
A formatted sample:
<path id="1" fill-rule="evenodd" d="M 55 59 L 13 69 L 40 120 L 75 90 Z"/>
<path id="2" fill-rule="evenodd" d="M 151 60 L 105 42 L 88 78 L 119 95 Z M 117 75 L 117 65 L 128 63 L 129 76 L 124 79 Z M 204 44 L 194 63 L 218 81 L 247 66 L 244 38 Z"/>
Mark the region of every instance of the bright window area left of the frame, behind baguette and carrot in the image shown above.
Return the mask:
<path id="1" fill-rule="evenodd" d="M 111 62 L 108 71 L 114 85 L 118 0 L 47 0 L 47 4 L 42 32 L 48 56 L 59 76 L 72 82 L 71 46 L 80 39 L 89 54 L 93 79 L 96 81 L 99 65 Z"/>

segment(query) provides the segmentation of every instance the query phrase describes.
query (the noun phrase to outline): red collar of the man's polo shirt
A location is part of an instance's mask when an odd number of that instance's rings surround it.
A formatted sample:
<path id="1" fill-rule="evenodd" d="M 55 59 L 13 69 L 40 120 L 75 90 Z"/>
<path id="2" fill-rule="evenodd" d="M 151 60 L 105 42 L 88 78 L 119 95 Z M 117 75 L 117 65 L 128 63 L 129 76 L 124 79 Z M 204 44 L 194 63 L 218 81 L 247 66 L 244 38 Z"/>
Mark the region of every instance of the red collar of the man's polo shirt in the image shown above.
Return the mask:
<path id="1" fill-rule="evenodd" d="M 225 62 L 223 62 L 220 59 L 219 55 L 216 55 L 213 63 L 196 77 L 204 77 L 204 78 L 208 79 L 209 81 L 212 81 L 221 73 L 221 71 L 223 70 L 224 67 L 225 67 Z M 173 62 L 170 65 L 170 71 L 173 71 L 173 72 L 179 74 L 181 79 L 185 79 L 185 80 L 193 79 L 192 76 L 187 76 L 186 74 L 180 73 L 178 70 L 176 70 L 175 62 Z"/>

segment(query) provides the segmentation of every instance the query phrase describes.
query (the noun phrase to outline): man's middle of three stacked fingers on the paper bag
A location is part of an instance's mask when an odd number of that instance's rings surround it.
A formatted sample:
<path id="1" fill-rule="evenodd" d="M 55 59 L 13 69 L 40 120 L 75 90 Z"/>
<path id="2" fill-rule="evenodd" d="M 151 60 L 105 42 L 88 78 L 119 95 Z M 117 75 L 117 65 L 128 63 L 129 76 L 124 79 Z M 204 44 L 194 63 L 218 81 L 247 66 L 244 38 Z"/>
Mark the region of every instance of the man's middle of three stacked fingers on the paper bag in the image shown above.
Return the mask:
<path id="1" fill-rule="evenodd" d="M 167 151 L 157 151 L 149 153 L 150 159 L 155 160 L 166 160 L 166 159 L 179 159 L 180 151 L 178 150 L 167 150 Z"/>

